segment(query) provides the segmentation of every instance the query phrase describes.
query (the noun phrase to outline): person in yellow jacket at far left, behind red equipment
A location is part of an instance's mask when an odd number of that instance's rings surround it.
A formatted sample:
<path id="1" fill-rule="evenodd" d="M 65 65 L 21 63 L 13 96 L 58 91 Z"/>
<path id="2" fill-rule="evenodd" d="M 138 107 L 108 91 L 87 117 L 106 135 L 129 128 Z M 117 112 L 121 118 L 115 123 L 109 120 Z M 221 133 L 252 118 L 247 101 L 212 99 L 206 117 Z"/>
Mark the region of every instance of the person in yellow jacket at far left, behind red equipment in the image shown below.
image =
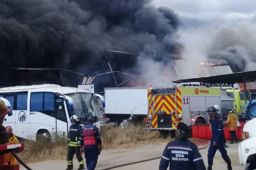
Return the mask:
<path id="1" fill-rule="evenodd" d="M 9 142 L 6 144 L 19 143 L 19 140 L 17 139 L 17 137 L 12 133 L 12 127 L 7 126 L 6 130 L 9 136 Z M 14 156 L 12 156 L 12 153 L 6 153 L 4 154 L 4 164 L 14 165 L 14 164 L 17 164 L 17 160 L 15 159 Z"/>

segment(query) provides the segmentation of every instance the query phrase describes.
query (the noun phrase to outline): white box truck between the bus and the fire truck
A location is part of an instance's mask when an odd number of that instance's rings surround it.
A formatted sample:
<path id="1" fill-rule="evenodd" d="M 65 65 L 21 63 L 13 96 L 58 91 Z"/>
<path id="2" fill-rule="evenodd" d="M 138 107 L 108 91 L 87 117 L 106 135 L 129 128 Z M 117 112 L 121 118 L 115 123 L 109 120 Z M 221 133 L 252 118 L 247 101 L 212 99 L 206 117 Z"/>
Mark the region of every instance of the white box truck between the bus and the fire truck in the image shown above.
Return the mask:
<path id="1" fill-rule="evenodd" d="M 148 88 L 105 88 L 105 115 L 118 124 L 131 114 L 137 120 L 147 116 Z"/>

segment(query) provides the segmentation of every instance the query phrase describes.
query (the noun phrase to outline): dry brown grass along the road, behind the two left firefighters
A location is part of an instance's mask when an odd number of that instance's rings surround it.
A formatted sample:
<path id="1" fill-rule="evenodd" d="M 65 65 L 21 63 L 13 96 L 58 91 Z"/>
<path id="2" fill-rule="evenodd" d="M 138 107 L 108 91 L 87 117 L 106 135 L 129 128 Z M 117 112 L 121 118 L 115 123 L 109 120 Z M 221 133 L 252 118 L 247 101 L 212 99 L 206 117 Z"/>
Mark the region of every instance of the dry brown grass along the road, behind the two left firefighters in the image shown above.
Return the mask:
<path id="1" fill-rule="evenodd" d="M 102 127 L 103 149 L 119 149 L 136 147 L 137 144 L 150 142 L 167 142 L 170 138 L 161 139 L 158 131 L 145 132 L 144 125 L 131 125 L 127 129 L 117 126 Z M 25 148 L 19 153 L 20 159 L 26 163 L 66 159 L 67 137 L 54 136 L 52 142 L 41 139 L 39 142 L 25 141 Z"/>

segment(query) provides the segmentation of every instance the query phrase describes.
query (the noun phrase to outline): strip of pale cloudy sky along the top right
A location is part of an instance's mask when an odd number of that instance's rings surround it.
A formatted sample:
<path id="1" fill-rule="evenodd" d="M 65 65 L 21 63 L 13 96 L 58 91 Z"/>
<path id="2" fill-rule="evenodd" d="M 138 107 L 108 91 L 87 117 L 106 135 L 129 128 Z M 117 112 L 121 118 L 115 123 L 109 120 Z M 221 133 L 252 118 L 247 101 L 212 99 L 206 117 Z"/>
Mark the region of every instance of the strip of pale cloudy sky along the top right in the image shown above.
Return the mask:
<path id="1" fill-rule="evenodd" d="M 172 8 L 181 18 L 200 21 L 250 19 L 256 15 L 255 0 L 154 0 Z"/>

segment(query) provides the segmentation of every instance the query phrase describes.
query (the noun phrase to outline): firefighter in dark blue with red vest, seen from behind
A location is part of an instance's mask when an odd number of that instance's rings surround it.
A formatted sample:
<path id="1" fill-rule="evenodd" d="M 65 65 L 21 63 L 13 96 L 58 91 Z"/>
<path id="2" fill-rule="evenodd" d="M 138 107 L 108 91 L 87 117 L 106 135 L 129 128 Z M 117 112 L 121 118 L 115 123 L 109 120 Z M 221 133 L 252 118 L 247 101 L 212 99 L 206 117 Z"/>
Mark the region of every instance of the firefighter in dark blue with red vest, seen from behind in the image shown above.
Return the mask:
<path id="1" fill-rule="evenodd" d="M 102 141 L 99 129 L 93 125 L 92 116 L 87 118 L 87 125 L 83 128 L 83 139 L 87 170 L 94 170 L 102 150 Z"/>

